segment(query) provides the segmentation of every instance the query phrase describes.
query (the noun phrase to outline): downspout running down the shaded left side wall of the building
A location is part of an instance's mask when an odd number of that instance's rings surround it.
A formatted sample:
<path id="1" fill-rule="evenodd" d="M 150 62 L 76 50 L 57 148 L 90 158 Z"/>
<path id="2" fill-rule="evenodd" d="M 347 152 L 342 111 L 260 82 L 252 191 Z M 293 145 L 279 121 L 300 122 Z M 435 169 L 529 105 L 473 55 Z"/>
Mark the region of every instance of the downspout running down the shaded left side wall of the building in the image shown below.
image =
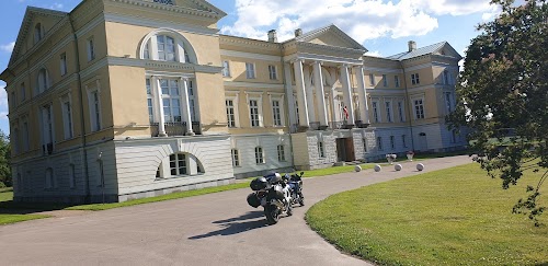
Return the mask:
<path id="1" fill-rule="evenodd" d="M 90 190 L 90 171 L 88 165 L 88 152 L 85 147 L 88 144 L 85 139 L 85 116 L 83 115 L 83 93 L 82 93 L 82 80 L 80 76 L 80 48 L 78 46 L 78 36 L 76 34 L 75 24 L 69 16 L 70 28 L 72 30 L 72 34 L 75 35 L 75 49 L 76 49 L 76 74 L 78 79 L 78 96 L 80 97 L 80 126 L 82 130 L 82 149 L 83 149 L 83 167 L 85 173 L 85 203 L 91 203 L 91 190 Z"/>

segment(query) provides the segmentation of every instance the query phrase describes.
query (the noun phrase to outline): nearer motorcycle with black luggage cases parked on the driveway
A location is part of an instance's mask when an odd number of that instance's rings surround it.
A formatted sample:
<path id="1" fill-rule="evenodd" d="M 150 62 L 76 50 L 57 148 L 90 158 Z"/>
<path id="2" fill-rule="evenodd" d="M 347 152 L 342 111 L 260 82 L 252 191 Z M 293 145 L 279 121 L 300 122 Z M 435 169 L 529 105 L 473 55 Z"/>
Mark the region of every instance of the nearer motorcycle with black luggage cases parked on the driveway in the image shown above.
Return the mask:
<path id="1" fill-rule="evenodd" d="M 293 216 L 292 192 L 278 173 L 256 177 L 250 187 L 253 193 L 248 195 L 248 204 L 253 208 L 262 206 L 269 224 L 277 223 L 283 212 Z"/>

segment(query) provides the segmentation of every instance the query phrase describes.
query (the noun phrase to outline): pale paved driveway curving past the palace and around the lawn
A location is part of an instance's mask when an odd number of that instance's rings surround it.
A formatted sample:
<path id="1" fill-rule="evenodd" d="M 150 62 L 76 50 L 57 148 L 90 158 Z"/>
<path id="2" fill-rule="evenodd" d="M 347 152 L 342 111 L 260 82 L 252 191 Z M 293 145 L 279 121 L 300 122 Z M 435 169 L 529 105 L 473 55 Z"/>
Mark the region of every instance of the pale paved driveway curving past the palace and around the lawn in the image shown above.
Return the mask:
<path id="1" fill-rule="evenodd" d="M 423 172 L 468 162 L 432 159 Z M 270 227 L 247 205 L 250 189 L 0 225 L 0 265 L 369 265 L 324 242 L 305 212 L 329 195 L 420 173 L 403 167 L 306 178 L 307 206 Z"/>

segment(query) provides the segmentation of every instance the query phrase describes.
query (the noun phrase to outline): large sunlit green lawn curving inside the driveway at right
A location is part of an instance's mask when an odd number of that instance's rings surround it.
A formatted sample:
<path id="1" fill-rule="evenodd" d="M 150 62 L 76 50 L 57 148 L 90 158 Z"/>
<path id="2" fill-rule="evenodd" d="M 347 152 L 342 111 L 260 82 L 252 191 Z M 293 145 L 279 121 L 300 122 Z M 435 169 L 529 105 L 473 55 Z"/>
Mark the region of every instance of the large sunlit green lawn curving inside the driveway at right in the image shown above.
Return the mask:
<path id="1" fill-rule="evenodd" d="M 306 219 L 341 250 L 379 265 L 546 265 L 548 216 L 535 228 L 511 213 L 539 176 L 504 190 L 468 164 L 333 195 Z"/>

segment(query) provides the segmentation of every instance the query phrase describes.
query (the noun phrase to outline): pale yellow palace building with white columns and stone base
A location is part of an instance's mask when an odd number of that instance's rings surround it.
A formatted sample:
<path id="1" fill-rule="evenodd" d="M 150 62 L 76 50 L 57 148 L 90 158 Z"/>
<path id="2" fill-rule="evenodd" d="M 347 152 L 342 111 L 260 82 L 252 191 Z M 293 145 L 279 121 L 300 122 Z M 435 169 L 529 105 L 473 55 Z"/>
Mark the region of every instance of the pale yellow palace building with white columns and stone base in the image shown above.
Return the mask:
<path id="1" fill-rule="evenodd" d="M 7 82 L 14 199 L 125 201 L 269 171 L 466 144 L 444 122 L 460 56 L 372 57 L 335 25 L 221 35 L 204 0 L 27 8 Z"/>

